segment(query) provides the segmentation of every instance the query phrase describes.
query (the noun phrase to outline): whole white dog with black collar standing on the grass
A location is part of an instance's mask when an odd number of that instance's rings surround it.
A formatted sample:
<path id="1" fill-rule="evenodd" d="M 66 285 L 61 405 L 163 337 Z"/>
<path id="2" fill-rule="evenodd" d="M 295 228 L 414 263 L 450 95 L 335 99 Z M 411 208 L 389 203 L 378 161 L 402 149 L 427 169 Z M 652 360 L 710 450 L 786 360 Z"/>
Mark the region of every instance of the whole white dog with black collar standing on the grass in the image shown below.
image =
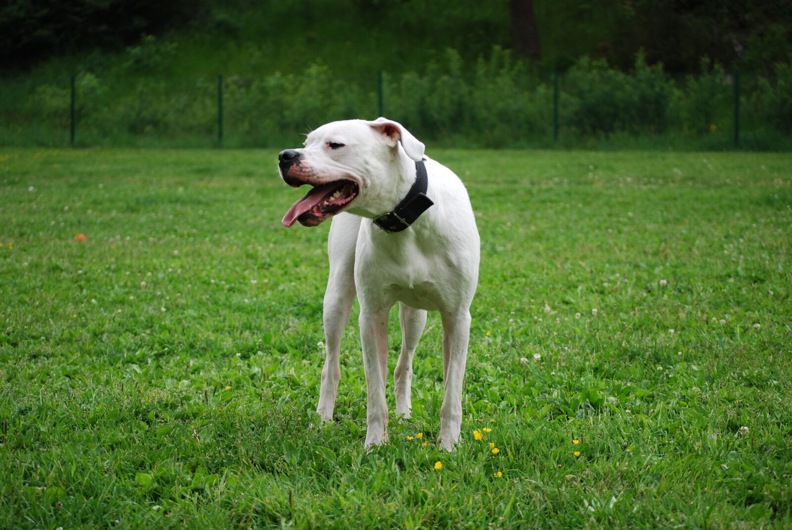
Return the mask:
<path id="1" fill-rule="evenodd" d="M 394 372 L 396 414 L 410 415 L 413 353 L 426 311 L 443 320 L 444 397 L 441 447 L 451 451 L 462 424 L 462 383 L 470 337 L 470 303 L 478 283 L 479 239 L 462 181 L 424 156 L 424 144 L 401 124 L 336 121 L 310 132 L 303 149 L 280 153 L 288 185 L 314 186 L 284 215 L 330 227 L 330 275 L 324 302 L 327 358 L 318 414 L 333 417 L 341 334 L 357 294 L 368 391 L 366 446 L 388 440 L 385 399 L 387 322 L 399 303 L 402 352 Z M 344 213 L 341 213 L 344 212 Z"/>

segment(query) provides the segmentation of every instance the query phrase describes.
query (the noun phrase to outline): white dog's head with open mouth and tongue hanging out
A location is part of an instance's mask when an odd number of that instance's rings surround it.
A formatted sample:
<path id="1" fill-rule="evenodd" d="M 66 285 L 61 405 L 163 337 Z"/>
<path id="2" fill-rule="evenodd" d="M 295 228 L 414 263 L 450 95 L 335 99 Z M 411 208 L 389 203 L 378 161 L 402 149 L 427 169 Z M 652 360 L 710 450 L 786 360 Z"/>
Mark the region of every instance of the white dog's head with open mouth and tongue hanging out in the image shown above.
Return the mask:
<path id="1" fill-rule="evenodd" d="M 284 215 L 315 227 L 345 210 L 371 216 L 392 206 L 399 171 L 421 160 L 424 144 L 392 120 L 333 121 L 310 132 L 305 147 L 281 151 L 280 177 L 287 185 L 313 186 Z"/>

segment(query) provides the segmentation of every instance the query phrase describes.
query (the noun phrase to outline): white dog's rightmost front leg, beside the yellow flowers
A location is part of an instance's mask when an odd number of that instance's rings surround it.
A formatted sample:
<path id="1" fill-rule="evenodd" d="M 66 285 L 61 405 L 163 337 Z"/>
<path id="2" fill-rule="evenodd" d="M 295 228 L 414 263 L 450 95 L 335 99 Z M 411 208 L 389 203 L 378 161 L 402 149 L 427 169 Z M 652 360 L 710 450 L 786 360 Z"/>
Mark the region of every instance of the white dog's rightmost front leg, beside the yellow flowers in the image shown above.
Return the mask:
<path id="1" fill-rule="evenodd" d="M 440 409 L 440 447 L 452 451 L 462 429 L 462 383 L 470 340 L 470 312 L 443 313 L 443 407 Z"/>

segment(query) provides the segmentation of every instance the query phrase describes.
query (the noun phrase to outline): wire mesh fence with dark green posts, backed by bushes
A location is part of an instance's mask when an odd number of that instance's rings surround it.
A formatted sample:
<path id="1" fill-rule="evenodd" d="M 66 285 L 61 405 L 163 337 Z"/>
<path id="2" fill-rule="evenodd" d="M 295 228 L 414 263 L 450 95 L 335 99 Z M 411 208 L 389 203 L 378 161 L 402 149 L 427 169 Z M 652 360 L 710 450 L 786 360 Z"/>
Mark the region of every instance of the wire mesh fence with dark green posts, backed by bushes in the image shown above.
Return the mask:
<path id="1" fill-rule="evenodd" d="M 0 143 L 49 146 L 283 147 L 332 120 L 385 115 L 429 143 L 458 147 L 790 145 L 792 75 L 717 69 L 668 74 L 597 67 L 529 73 L 0 82 Z"/>

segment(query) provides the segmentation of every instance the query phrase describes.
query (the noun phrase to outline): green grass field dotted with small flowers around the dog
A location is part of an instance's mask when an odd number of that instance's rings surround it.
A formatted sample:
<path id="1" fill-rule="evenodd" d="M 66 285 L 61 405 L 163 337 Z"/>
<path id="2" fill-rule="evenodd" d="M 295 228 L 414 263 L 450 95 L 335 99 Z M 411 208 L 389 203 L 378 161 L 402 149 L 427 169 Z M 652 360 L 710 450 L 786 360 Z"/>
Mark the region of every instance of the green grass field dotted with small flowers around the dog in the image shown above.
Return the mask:
<path id="1" fill-rule="evenodd" d="M 429 154 L 482 234 L 453 454 L 438 315 L 390 444 L 356 325 L 317 424 L 276 152 L 0 148 L 0 528 L 792 528 L 792 155 Z"/>

